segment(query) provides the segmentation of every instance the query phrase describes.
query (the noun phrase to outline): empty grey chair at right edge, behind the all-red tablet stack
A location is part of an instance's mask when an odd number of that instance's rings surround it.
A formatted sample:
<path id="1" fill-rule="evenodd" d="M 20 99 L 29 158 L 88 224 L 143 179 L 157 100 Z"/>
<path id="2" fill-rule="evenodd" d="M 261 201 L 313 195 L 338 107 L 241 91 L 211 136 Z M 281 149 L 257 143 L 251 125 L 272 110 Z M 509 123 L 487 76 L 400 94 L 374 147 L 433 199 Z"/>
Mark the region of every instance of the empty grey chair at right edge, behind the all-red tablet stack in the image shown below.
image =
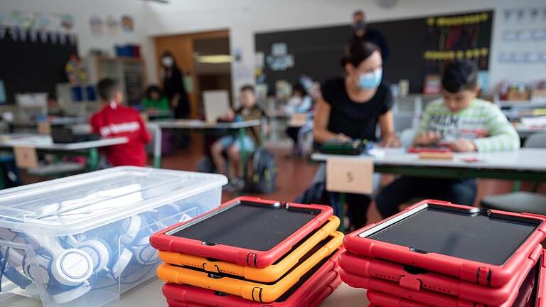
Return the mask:
<path id="1" fill-rule="evenodd" d="M 525 141 L 525 148 L 546 149 L 546 133 L 532 134 Z M 535 183 L 536 192 L 538 183 Z M 491 195 L 483 198 L 481 207 L 486 209 L 495 209 L 511 212 L 528 212 L 540 215 L 546 215 L 546 195 L 516 192 L 500 195 Z"/>

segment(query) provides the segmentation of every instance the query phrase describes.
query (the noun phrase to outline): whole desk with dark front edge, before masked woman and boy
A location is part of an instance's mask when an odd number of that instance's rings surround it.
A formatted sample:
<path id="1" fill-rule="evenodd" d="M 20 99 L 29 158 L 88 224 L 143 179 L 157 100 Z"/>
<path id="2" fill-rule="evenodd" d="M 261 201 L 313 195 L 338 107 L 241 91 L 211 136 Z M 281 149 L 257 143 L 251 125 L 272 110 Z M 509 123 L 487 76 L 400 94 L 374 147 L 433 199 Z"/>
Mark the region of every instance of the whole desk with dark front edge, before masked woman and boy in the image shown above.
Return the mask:
<path id="1" fill-rule="evenodd" d="M 511 179 L 516 180 L 514 190 L 519 190 L 519 181 L 546 181 L 546 149 L 461 153 L 454 154 L 452 160 L 422 160 L 417 154 L 409 154 L 405 149 L 378 149 L 378 155 L 375 156 L 311 156 L 314 161 L 326 161 L 334 157 L 371 159 L 376 173 L 434 178 Z M 477 158 L 477 161 L 466 162 L 465 158 Z"/>

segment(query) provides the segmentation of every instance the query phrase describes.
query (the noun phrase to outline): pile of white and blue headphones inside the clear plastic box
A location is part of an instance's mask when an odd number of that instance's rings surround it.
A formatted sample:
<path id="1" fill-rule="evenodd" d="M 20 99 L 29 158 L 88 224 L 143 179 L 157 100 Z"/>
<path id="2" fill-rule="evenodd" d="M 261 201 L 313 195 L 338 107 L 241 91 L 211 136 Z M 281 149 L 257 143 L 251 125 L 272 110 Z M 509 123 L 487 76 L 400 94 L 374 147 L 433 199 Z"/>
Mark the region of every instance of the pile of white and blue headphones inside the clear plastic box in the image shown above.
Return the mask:
<path id="1" fill-rule="evenodd" d="M 56 303 L 73 301 L 91 290 L 88 279 L 93 274 L 109 274 L 117 283 L 133 259 L 141 265 L 159 262 L 155 249 L 149 244 L 153 231 L 145 226 L 146 218 L 134 215 L 86 235 L 60 239 L 0 228 L 0 239 L 30 244 L 35 254 L 29 257 L 23 250 L 0 247 L 0 268 L 7 260 L 0 276 L 4 275 L 21 289 L 26 289 L 31 281 L 43 285 Z M 14 269 L 19 267 L 24 276 Z"/>

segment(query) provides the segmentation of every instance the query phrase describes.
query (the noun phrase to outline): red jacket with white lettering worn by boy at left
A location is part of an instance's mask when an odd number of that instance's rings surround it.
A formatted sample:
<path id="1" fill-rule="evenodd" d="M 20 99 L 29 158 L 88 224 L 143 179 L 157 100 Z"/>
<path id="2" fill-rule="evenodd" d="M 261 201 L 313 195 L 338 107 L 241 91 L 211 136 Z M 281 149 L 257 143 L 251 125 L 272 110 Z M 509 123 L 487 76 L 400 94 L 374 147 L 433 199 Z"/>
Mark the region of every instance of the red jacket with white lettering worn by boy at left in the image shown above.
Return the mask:
<path id="1" fill-rule="evenodd" d="M 150 134 L 139 112 L 120 104 L 108 104 L 92 115 L 90 119 L 93 133 L 103 138 L 125 136 L 129 142 L 108 146 L 102 153 L 112 166 L 146 166 L 146 149 Z"/>

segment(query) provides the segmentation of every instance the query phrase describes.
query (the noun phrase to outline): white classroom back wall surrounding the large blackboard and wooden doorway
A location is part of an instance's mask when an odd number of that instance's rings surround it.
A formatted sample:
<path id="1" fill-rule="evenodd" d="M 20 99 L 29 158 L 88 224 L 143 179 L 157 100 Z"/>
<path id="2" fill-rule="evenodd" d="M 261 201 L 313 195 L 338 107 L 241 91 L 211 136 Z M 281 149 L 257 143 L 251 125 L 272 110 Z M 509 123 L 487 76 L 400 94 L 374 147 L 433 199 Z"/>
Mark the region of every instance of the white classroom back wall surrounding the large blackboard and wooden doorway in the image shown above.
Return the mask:
<path id="1" fill-rule="evenodd" d="M 514 7 L 544 7 L 543 0 L 404 0 L 398 1 L 392 9 L 382 9 L 377 3 L 376 0 L 171 0 L 168 4 L 138 0 L 1 0 L 0 12 L 18 10 L 73 14 L 74 31 L 80 38 L 81 55 L 87 55 L 90 48 L 112 50 L 115 43 L 139 43 L 146 60 L 149 82 L 157 81 L 157 63 L 151 37 L 229 28 L 232 52 L 240 50 L 242 53 L 242 63 L 232 63 L 232 86 L 236 90 L 244 83 L 254 82 L 256 32 L 349 23 L 355 9 L 365 10 L 370 21 L 494 9 L 496 19 L 493 25 L 490 63 L 491 84 L 509 76 L 513 80 L 522 81 L 544 76 L 545 64 L 505 64 L 498 60 L 501 51 L 520 48 L 517 44 L 503 43 L 502 34 L 507 28 L 501 18 L 503 10 Z M 93 36 L 89 26 L 89 19 L 93 14 L 103 17 L 108 14 L 132 14 L 135 18 L 135 31 L 130 35 Z M 408 43 L 411 43 L 410 38 Z M 528 45 L 525 47 L 529 48 Z M 535 47 L 546 50 L 546 42 L 535 43 Z"/>

